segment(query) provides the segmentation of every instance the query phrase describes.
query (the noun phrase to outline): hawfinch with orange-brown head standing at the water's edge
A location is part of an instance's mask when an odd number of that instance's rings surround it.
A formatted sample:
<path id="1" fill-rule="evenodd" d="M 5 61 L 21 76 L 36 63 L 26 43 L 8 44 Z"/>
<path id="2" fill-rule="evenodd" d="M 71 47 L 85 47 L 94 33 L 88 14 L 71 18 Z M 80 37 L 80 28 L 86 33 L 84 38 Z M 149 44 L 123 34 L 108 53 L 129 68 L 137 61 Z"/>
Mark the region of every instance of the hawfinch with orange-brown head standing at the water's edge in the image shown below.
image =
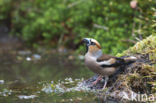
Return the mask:
<path id="1" fill-rule="evenodd" d="M 137 60 L 134 56 L 121 58 L 104 54 L 100 43 L 93 38 L 84 38 L 82 42 L 86 45 L 85 65 L 99 75 L 92 85 L 96 85 L 104 77 L 105 82 L 102 89 L 106 88 L 109 76 L 115 74 L 120 66 Z"/>

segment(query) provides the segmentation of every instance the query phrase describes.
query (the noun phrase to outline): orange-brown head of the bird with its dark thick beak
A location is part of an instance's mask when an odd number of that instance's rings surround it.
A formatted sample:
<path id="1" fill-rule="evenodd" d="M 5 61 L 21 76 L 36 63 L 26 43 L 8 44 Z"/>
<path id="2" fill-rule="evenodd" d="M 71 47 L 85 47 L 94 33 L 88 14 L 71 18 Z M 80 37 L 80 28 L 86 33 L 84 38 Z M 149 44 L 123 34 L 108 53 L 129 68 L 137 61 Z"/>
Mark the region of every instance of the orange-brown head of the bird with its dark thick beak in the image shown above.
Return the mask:
<path id="1" fill-rule="evenodd" d="M 86 44 L 87 52 L 94 53 L 101 50 L 101 45 L 95 39 L 84 38 L 82 41 Z"/>

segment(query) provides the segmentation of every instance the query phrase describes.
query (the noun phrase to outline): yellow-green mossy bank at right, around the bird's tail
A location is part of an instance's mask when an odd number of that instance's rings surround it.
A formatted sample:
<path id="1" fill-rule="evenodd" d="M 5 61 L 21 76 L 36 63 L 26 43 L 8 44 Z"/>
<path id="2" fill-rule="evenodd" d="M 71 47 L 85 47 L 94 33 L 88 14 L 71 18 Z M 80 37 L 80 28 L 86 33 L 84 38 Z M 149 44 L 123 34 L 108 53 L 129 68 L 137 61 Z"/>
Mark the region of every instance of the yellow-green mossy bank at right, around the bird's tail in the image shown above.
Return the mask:
<path id="1" fill-rule="evenodd" d="M 125 74 L 119 75 L 118 82 L 136 93 L 155 93 L 156 92 L 156 35 L 151 35 L 146 39 L 137 42 L 128 50 L 117 54 L 117 56 L 140 56 L 146 55 L 147 58 L 141 58 L 142 61 L 136 62 L 127 67 Z M 149 58 L 148 58 L 149 57 Z M 151 63 L 153 65 L 151 65 Z M 122 80 L 122 81 L 121 81 Z"/>

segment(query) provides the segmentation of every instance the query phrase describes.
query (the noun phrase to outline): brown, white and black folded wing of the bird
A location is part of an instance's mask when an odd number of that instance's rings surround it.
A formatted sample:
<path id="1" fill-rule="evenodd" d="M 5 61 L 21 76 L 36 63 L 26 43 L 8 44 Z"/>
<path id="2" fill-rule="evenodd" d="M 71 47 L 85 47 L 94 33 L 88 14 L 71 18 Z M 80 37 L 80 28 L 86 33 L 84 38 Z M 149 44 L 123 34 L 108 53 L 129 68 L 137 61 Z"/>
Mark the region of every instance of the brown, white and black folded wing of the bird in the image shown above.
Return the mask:
<path id="1" fill-rule="evenodd" d="M 124 59 L 106 54 L 97 58 L 96 61 L 101 67 L 116 67 L 124 63 Z"/>

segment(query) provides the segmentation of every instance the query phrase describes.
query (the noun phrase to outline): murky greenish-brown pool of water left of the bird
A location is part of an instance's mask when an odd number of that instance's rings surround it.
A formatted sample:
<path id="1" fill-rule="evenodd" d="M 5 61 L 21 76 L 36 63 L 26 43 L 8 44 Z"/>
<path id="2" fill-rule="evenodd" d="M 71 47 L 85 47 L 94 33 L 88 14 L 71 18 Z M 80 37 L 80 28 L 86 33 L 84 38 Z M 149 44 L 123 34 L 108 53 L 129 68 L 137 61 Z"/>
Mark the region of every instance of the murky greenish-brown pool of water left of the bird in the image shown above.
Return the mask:
<path id="1" fill-rule="evenodd" d="M 0 55 L 0 103 L 98 102 L 94 91 L 81 85 L 93 73 L 78 56 L 23 53 Z"/>

